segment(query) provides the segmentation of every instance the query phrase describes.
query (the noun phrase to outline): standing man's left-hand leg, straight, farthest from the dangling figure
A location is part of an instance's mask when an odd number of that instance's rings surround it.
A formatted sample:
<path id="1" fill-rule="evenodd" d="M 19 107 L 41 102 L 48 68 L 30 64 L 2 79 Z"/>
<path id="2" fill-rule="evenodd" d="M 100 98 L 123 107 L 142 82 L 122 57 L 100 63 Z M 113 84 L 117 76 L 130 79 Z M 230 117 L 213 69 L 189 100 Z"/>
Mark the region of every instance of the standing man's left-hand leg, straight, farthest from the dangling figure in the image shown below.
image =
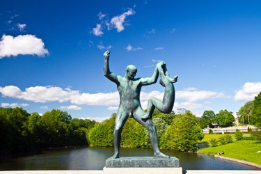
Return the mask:
<path id="1" fill-rule="evenodd" d="M 115 127 L 113 132 L 114 155 L 112 156 L 112 158 L 118 158 L 120 155 L 121 132 L 125 122 L 127 121 L 127 118 L 127 113 L 123 111 L 123 109 L 119 109 L 115 118 Z"/>

